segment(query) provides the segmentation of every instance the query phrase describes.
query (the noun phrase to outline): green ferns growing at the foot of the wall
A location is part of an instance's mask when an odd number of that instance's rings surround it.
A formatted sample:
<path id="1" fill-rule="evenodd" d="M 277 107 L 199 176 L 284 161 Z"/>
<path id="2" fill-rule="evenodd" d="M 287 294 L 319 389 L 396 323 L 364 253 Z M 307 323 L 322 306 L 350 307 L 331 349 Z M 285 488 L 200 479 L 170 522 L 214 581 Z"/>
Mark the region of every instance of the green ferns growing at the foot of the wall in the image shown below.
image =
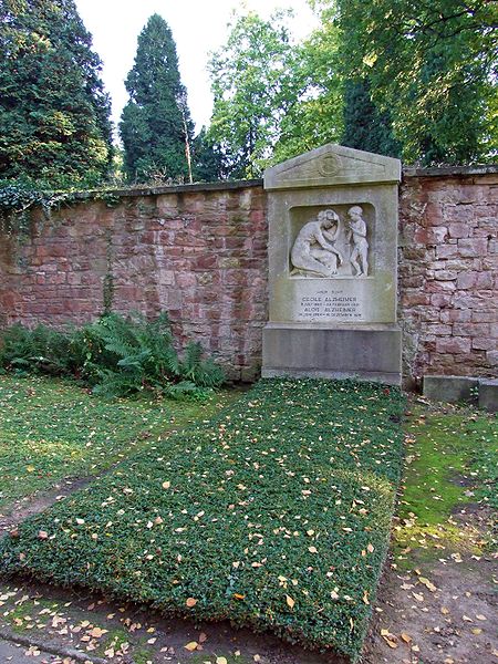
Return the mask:
<path id="1" fill-rule="evenodd" d="M 224 382 L 221 369 L 204 360 L 200 344 L 191 342 L 178 356 L 166 313 L 151 322 L 139 314 L 111 313 L 70 332 L 17 324 L 0 341 L 0 366 L 72 375 L 105 396 L 145 391 L 203 397 L 206 388 Z"/>

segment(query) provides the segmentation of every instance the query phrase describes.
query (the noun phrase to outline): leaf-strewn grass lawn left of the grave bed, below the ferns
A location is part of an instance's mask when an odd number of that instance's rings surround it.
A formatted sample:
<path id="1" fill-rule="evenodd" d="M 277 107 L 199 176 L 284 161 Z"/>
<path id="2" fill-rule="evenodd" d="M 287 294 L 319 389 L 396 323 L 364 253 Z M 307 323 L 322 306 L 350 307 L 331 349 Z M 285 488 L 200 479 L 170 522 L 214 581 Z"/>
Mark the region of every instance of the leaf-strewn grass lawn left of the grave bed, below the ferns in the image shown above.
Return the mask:
<path id="1" fill-rule="evenodd" d="M 66 477 L 102 473 L 237 398 L 104 401 L 71 382 L 0 375 L 0 511 Z"/>

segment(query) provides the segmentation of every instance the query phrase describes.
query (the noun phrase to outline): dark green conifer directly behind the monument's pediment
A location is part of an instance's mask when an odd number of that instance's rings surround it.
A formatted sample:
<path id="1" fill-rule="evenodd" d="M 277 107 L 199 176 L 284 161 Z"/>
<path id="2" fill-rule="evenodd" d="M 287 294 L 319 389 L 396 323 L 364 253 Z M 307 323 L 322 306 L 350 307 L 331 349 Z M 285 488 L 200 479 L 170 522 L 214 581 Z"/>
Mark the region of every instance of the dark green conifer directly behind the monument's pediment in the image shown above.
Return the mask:
<path id="1" fill-rule="evenodd" d="M 401 144 L 393 136 L 391 114 L 380 112 L 372 102 L 367 79 L 345 82 L 341 144 L 390 157 L 401 156 Z"/>

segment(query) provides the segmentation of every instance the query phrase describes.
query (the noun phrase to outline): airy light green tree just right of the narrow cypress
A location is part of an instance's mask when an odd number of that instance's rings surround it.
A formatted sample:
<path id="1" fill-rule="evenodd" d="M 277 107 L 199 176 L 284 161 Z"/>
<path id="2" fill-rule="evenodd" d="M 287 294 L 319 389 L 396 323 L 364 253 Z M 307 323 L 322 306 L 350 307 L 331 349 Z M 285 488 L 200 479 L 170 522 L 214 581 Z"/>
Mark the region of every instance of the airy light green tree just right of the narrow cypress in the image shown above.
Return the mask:
<path id="1" fill-rule="evenodd" d="M 215 98 L 209 138 L 229 177 L 257 177 L 270 164 L 280 124 L 298 97 L 299 51 L 284 23 L 288 12 L 263 21 L 236 17 L 227 43 L 209 63 Z"/>

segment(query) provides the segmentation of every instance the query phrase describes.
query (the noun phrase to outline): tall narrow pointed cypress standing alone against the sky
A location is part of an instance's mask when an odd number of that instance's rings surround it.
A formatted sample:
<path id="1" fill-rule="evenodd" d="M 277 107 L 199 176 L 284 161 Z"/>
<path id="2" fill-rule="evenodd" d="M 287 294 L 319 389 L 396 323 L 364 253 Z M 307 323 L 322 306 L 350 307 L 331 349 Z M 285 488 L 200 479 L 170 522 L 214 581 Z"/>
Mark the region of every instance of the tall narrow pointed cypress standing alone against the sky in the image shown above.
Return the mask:
<path id="1" fill-rule="evenodd" d="M 126 79 L 129 101 L 120 132 L 131 179 L 189 177 L 193 123 L 180 81 L 172 31 L 158 14 L 141 34 L 135 64 Z"/>

